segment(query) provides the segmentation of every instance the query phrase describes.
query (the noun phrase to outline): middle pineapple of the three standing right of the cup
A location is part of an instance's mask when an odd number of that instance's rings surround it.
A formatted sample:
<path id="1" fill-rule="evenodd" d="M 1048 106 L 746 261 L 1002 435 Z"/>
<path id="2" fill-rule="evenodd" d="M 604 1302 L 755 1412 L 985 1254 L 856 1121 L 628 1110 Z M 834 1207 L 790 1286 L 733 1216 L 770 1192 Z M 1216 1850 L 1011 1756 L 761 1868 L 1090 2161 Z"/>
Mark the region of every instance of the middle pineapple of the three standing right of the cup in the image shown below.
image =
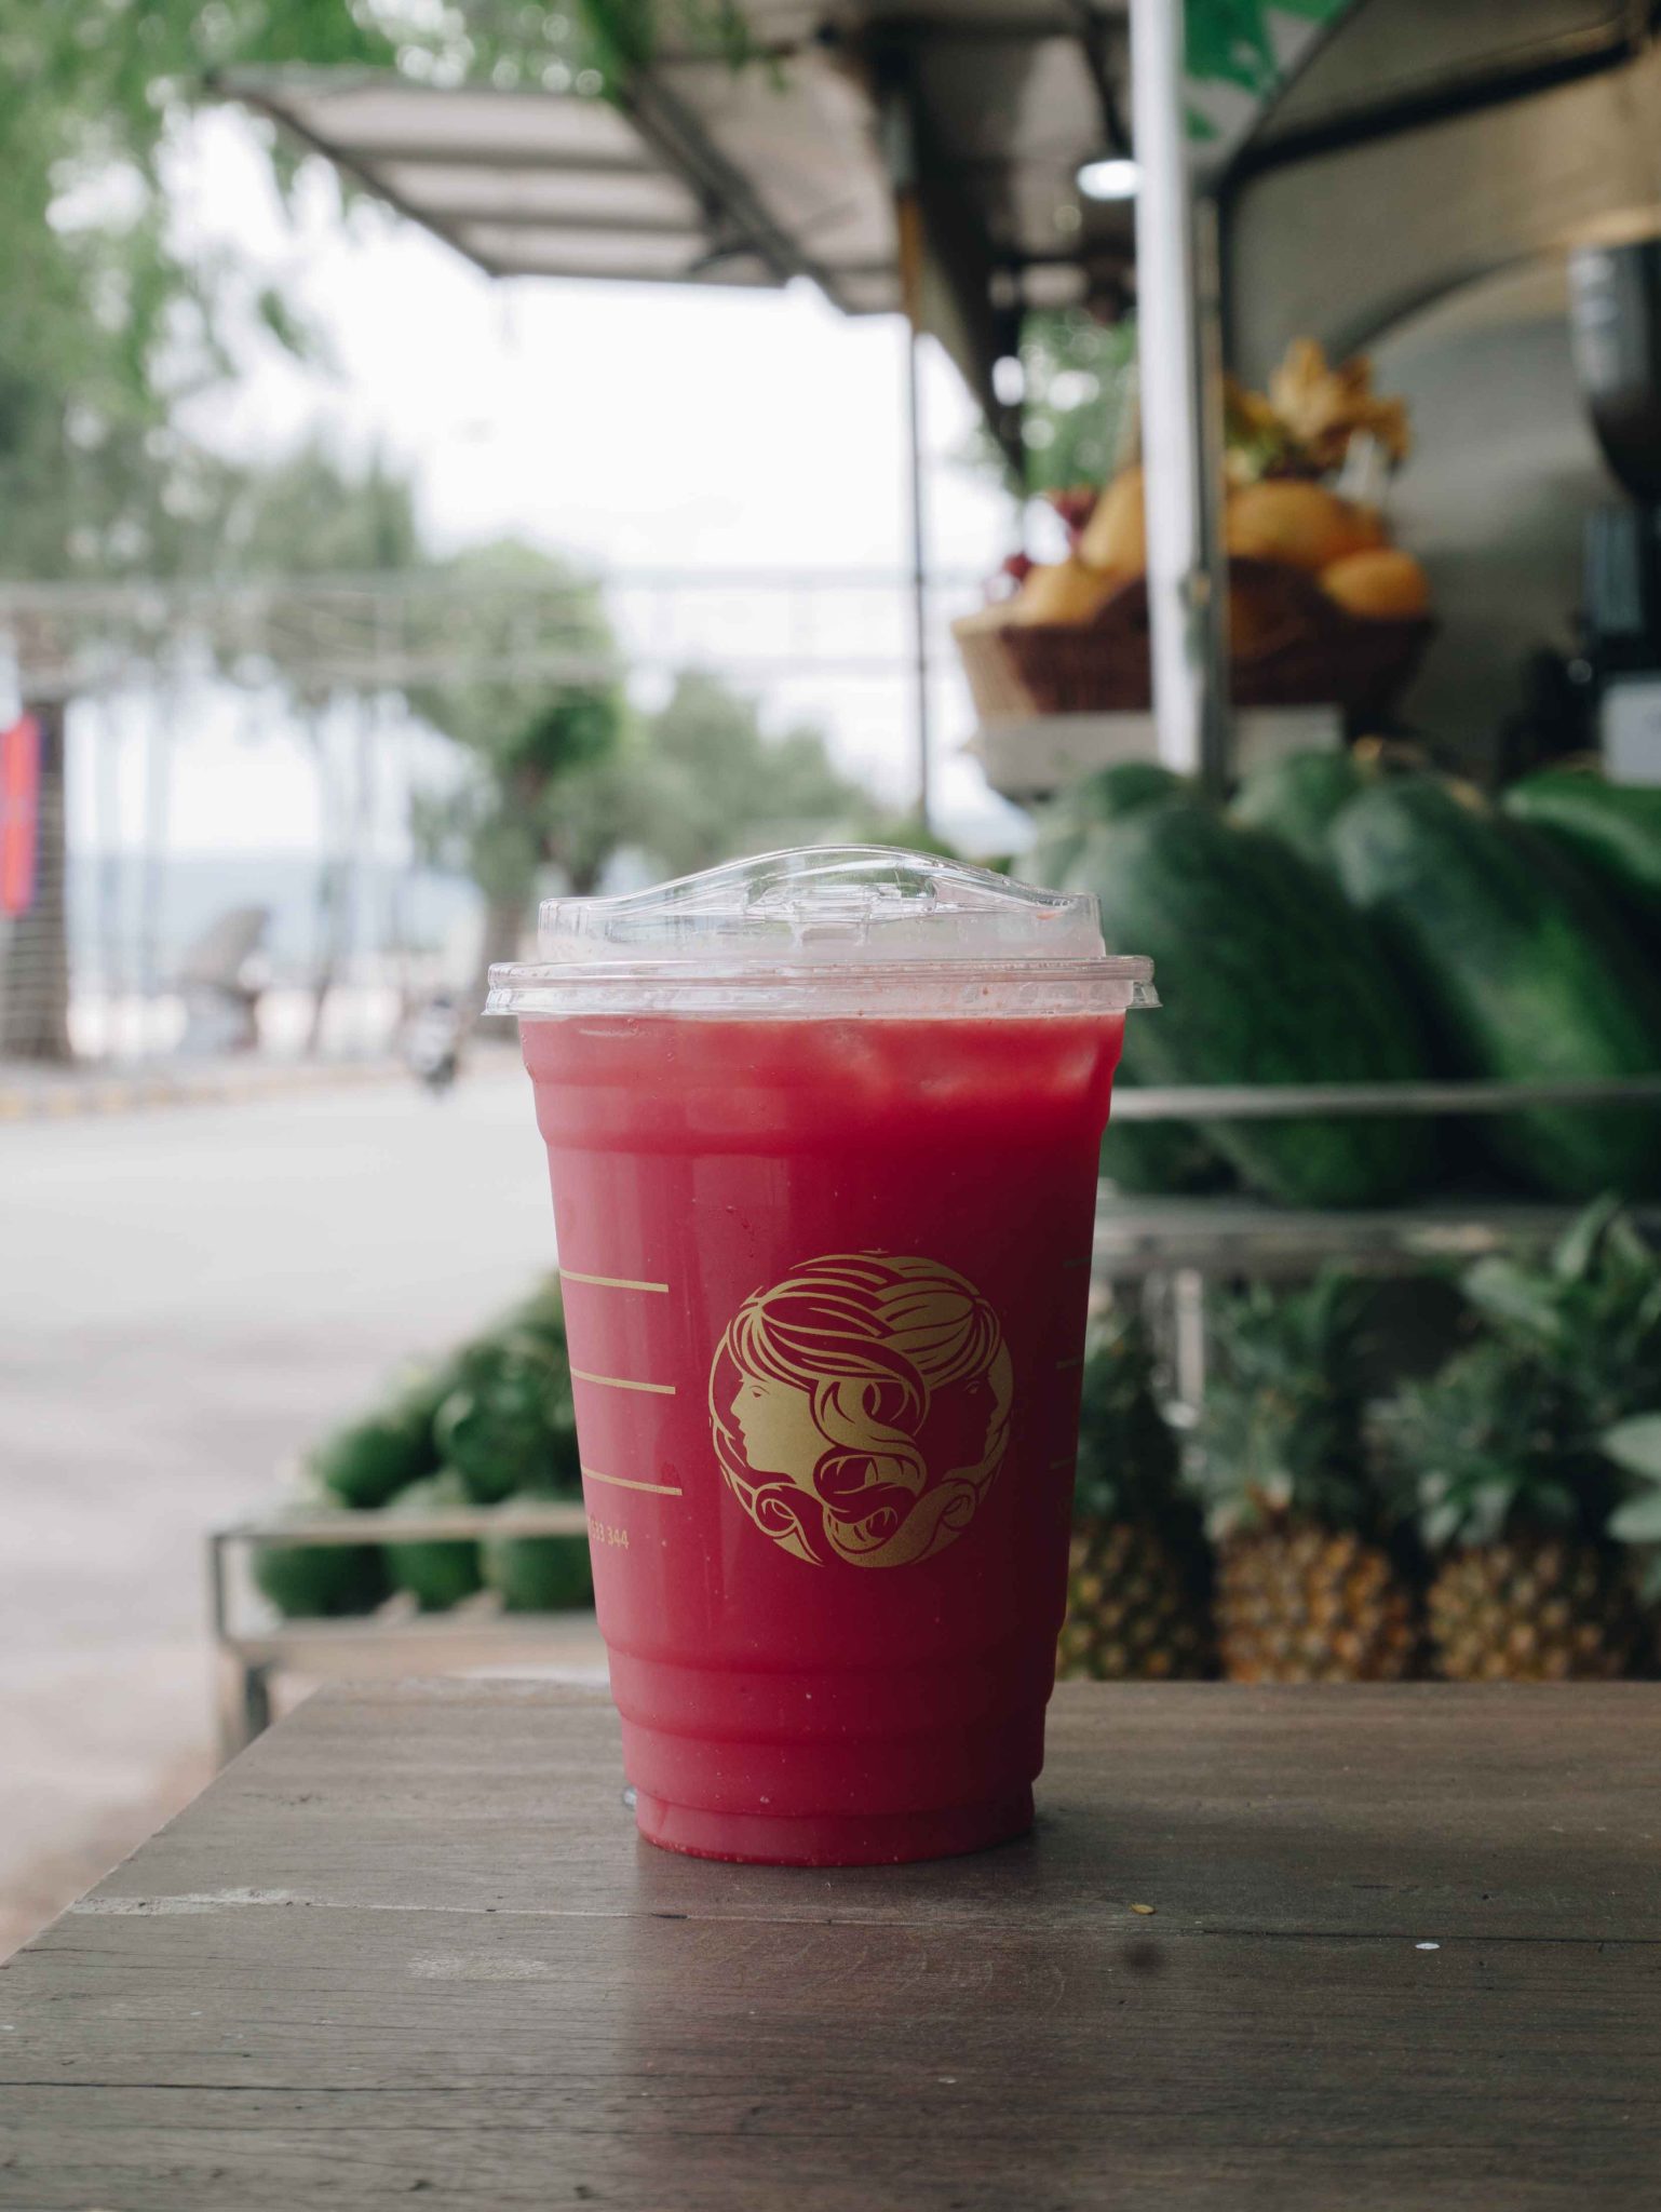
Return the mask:
<path id="1" fill-rule="evenodd" d="M 1362 1287 L 1252 1285 L 1216 1316 L 1194 1480 L 1216 1546 L 1230 1681 L 1400 1681 L 1413 1599 L 1387 1551 L 1360 1433 Z"/>

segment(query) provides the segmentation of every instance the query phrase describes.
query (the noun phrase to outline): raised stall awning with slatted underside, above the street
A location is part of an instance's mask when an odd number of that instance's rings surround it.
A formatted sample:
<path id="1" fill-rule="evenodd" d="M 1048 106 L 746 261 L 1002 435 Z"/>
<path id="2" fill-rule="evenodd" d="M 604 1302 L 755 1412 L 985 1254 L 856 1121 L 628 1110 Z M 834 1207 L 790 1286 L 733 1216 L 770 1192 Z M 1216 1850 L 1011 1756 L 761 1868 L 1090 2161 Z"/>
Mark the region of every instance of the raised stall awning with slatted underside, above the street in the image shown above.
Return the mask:
<path id="1" fill-rule="evenodd" d="M 920 319 L 1015 449 L 993 363 L 1033 305 L 1132 290 L 1130 204 L 1077 173 L 1126 153 L 1128 0 L 745 0 L 759 55 L 659 51 L 613 100 L 438 88 L 363 71 L 232 71 L 369 190 L 498 276 L 781 285 L 849 314 L 902 305 L 896 181 L 913 179 Z M 1343 0 L 1263 13 L 1265 42 L 1212 38 L 1190 82 L 1197 155 L 1225 164 Z M 1250 13 L 1250 11 L 1247 11 Z M 1236 13 L 1214 11 L 1214 29 Z"/>

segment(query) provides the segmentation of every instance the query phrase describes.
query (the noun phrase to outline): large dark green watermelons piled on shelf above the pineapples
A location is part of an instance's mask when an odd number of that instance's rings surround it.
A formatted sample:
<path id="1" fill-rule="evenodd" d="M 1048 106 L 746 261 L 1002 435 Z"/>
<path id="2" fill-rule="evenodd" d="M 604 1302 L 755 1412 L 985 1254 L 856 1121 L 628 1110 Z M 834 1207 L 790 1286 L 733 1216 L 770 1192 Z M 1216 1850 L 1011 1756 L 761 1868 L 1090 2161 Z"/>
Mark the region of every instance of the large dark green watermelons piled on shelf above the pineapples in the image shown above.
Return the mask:
<path id="1" fill-rule="evenodd" d="M 1121 1084 L 1661 1073 L 1661 792 L 1548 772 L 1491 805 L 1294 754 L 1216 810 L 1135 763 L 1057 803 L 1026 872 L 1095 891 L 1108 949 L 1155 958 L 1163 1011 L 1128 1024 Z M 1283 1206 L 1473 1179 L 1634 1199 L 1661 1192 L 1661 1108 L 1121 1121 L 1101 1164 L 1126 1190 Z"/>

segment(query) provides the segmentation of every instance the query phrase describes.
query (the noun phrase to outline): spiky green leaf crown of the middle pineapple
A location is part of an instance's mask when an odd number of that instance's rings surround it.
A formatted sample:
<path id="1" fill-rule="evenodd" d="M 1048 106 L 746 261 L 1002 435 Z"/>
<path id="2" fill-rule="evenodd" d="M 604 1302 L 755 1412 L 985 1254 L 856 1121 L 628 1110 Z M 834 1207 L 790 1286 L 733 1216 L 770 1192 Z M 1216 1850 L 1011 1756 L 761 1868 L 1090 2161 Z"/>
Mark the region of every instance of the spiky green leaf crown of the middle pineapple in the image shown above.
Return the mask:
<path id="1" fill-rule="evenodd" d="M 1336 1267 L 1303 1290 L 1252 1283 L 1219 1301 L 1199 1427 L 1199 1495 L 1212 1535 L 1296 1513 L 1365 1528 L 1376 1502 L 1362 1455 L 1367 1285 Z"/>

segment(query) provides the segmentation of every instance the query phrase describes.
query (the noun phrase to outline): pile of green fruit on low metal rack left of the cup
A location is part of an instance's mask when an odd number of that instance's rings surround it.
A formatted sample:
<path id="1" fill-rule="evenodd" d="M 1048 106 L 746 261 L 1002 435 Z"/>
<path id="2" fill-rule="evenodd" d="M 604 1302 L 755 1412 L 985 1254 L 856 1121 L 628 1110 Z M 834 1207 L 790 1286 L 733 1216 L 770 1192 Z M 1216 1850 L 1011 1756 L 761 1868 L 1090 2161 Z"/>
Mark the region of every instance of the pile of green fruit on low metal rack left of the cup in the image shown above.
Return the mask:
<path id="1" fill-rule="evenodd" d="M 582 1498 L 577 1418 L 557 1281 L 542 1285 L 451 1358 L 400 1378 L 385 1405 L 307 1455 L 285 1504 L 299 1520 L 385 1511 L 398 1517 Z M 588 1540 L 495 1535 L 254 1548 L 254 1582 L 279 1613 L 369 1613 L 391 1590 L 425 1613 L 493 1590 L 511 1613 L 593 1604 Z"/>

